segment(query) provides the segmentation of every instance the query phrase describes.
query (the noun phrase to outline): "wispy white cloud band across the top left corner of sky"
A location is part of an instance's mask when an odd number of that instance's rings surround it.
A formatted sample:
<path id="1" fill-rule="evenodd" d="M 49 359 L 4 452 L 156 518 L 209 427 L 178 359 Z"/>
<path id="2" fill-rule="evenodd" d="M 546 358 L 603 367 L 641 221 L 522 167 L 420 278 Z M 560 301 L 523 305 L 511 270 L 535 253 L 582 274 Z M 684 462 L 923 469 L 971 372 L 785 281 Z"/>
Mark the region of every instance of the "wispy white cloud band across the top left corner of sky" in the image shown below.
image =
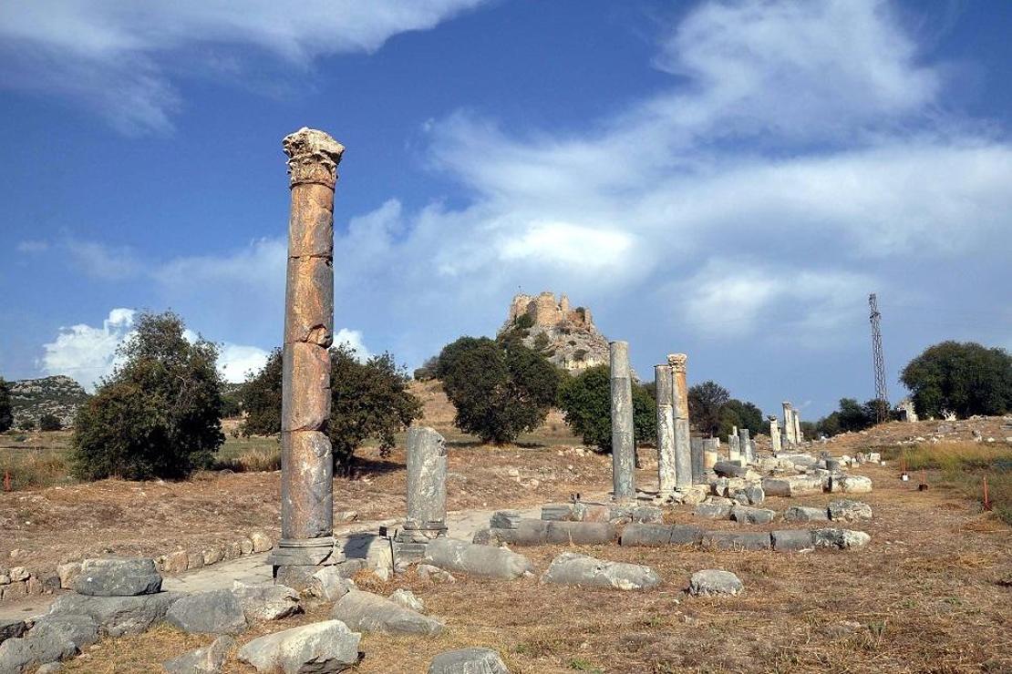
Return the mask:
<path id="1" fill-rule="evenodd" d="M 0 87 L 54 93 L 126 132 L 165 130 L 176 77 L 242 80 L 249 50 L 305 71 L 320 56 L 371 53 L 482 0 L 34 0 L 0 3 Z M 247 47 L 241 52 L 240 47 Z"/>

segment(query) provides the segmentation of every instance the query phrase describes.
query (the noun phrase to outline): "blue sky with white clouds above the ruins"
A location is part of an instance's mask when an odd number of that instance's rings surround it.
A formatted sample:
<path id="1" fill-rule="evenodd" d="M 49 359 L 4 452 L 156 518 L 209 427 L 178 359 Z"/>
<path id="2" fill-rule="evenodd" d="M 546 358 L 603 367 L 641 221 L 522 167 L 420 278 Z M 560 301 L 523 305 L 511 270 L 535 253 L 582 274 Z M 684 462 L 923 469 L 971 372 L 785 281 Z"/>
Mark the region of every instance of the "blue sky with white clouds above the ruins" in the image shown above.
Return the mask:
<path id="1" fill-rule="evenodd" d="M 346 146 L 335 331 L 409 368 L 566 292 L 644 375 L 776 413 L 1012 349 L 1012 3 L 0 4 L 0 375 L 92 388 L 138 310 L 281 339 L 281 138 Z"/>

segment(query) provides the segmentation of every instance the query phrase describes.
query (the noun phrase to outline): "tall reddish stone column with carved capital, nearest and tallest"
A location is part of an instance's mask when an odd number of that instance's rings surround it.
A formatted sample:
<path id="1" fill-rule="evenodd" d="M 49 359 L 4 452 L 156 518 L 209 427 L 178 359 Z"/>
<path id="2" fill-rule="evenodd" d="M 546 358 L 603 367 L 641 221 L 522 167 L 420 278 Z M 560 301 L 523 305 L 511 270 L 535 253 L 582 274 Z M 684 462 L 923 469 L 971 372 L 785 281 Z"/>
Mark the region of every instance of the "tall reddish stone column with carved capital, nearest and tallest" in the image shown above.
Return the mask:
<path id="1" fill-rule="evenodd" d="M 281 539 L 270 556 L 282 567 L 336 564 L 330 354 L 334 326 L 334 185 L 344 147 L 301 128 L 282 141 L 291 212 L 281 353 Z"/>

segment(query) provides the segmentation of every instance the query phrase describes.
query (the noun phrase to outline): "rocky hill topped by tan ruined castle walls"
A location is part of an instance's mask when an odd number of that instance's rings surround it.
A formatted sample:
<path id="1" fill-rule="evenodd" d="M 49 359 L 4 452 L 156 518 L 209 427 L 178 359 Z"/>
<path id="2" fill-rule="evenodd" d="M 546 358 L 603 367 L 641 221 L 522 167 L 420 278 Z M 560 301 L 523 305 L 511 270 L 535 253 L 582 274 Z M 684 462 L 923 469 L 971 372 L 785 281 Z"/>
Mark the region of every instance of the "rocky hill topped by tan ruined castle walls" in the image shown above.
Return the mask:
<path id="1" fill-rule="evenodd" d="M 511 330 L 567 372 L 608 363 L 608 341 L 594 325 L 590 309 L 572 308 L 565 294 L 558 301 L 551 292 L 514 297 L 499 334 Z"/>

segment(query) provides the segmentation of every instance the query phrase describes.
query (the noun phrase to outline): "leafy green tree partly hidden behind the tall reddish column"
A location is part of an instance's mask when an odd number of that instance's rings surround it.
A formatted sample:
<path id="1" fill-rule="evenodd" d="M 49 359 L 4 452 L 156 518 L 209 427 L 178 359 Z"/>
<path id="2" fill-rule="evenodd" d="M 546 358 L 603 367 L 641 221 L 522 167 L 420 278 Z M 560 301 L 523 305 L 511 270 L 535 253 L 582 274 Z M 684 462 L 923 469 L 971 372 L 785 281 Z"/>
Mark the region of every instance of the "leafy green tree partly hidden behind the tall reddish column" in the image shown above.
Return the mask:
<path id="1" fill-rule="evenodd" d="M 408 390 L 408 375 L 390 354 L 359 363 L 347 345 L 330 351 L 331 411 L 327 437 L 335 467 L 348 474 L 354 452 L 375 439 L 382 453 L 390 451 L 395 436 L 418 418 L 422 403 Z M 243 387 L 246 420 L 244 436 L 272 436 L 281 431 L 281 350 L 275 349 L 263 368 Z"/>

